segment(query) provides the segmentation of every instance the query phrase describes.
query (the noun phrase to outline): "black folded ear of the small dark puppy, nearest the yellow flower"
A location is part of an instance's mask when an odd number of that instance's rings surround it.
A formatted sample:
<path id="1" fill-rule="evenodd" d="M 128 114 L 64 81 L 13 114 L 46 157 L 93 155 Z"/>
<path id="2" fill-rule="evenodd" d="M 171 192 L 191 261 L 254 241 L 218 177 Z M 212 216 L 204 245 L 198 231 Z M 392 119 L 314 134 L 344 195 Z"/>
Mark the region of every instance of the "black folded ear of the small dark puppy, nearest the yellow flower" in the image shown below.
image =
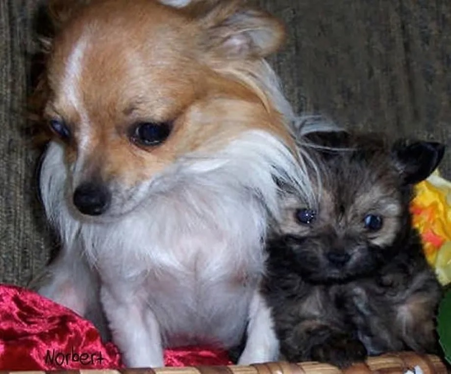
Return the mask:
<path id="1" fill-rule="evenodd" d="M 404 182 L 412 185 L 431 175 L 445 155 L 445 145 L 435 141 L 398 140 L 392 150 Z"/>

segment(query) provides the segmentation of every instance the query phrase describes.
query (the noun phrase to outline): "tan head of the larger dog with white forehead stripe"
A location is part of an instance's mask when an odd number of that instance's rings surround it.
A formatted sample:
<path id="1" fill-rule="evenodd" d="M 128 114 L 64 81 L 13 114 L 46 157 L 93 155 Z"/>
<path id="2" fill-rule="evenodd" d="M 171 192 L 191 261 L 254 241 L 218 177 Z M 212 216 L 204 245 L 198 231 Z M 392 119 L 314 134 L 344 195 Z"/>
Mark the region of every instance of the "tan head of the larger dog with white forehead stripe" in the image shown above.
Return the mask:
<path id="1" fill-rule="evenodd" d="M 212 0 L 53 0 L 50 13 L 44 117 L 82 213 L 120 214 L 175 160 L 214 154 L 248 130 L 292 146 L 252 77 L 284 39 L 268 14 Z"/>

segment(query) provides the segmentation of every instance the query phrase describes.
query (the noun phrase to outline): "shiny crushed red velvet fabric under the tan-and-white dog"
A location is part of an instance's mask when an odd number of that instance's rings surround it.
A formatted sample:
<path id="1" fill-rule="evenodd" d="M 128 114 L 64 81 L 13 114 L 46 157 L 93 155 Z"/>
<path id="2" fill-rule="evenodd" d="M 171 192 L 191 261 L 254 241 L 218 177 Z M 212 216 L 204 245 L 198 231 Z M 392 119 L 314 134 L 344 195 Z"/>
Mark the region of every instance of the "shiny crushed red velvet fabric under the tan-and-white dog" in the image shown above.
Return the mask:
<path id="1" fill-rule="evenodd" d="M 225 351 L 165 351 L 167 366 L 230 365 Z M 71 310 L 12 285 L 0 285 L 0 370 L 120 369 L 121 355 Z"/>

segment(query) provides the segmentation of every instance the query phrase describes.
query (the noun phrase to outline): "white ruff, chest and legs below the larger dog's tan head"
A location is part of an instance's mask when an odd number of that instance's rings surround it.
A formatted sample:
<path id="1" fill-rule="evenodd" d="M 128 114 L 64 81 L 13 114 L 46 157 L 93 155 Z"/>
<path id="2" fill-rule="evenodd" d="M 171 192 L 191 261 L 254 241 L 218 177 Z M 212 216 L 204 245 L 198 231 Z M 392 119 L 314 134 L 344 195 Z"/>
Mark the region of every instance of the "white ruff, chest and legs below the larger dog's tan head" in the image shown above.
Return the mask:
<path id="1" fill-rule="evenodd" d="M 180 160 L 150 183 L 145 204 L 121 219 L 81 222 L 67 206 L 63 148 L 51 143 L 41 193 L 63 251 L 40 293 L 86 315 L 100 287 L 128 366 L 162 366 L 164 346 L 237 345 L 258 297 L 268 214 L 277 215 L 275 177 L 292 179 L 298 170 L 280 141 L 253 131 L 213 158 Z M 272 343 L 248 348 L 258 357 L 247 353 L 246 363 L 276 359 Z"/>

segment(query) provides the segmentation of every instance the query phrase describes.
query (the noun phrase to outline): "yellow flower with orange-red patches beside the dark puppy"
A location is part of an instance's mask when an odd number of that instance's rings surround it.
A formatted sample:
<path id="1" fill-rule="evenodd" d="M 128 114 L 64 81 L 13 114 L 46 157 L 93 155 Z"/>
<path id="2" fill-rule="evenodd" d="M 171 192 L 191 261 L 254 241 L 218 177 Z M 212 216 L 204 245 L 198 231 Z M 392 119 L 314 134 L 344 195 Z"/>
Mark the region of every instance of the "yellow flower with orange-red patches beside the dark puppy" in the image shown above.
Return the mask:
<path id="1" fill-rule="evenodd" d="M 434 172 L 419 183 L 411 204 L 413 225 L 421 234 L 425 256 L 442 284 L 451 282 L 451 182 Z"/>

